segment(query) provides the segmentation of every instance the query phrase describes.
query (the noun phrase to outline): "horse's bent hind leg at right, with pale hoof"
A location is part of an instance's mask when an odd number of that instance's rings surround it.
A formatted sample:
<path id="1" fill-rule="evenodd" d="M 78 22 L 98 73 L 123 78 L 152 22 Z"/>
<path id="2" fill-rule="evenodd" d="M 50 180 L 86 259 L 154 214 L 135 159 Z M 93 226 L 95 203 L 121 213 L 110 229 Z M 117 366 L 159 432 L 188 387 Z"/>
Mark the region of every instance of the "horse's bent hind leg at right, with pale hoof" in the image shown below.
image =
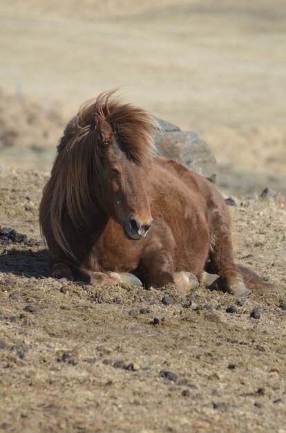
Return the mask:
<path id="1" fill-rule="evenodd" d="M 211 268 L 219 278 L 212 281 L 214 277 L 206 273 L 204 275 L 206 285 L 210 289 L 225 290 L 239 297 L 249 295 L 250 290 L 245 286 L 240 270 L 234 263 L 231 220 L 224 202 L 220 202 L 218 208 L 213 211 L 211 230 L 212 244 L 209 259 Z"/>

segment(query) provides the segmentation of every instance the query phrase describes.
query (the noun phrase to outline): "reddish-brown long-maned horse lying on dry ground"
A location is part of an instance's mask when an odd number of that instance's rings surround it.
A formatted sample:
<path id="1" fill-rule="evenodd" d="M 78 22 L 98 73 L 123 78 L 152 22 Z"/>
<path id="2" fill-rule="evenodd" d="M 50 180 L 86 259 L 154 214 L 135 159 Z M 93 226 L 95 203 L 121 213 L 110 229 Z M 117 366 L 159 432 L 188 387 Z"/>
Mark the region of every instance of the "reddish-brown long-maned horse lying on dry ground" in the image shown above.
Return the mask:
<path id="1" fill-rule="evenodd" d="M 244 278 L 263 282 L 233 261 L 225 201 L 199 174 L 155 156 L 155 129 L 113 92 L 70 120 L 39 209 L 53 277 L 179 291 L 200 279 L 247 295 Z"/>

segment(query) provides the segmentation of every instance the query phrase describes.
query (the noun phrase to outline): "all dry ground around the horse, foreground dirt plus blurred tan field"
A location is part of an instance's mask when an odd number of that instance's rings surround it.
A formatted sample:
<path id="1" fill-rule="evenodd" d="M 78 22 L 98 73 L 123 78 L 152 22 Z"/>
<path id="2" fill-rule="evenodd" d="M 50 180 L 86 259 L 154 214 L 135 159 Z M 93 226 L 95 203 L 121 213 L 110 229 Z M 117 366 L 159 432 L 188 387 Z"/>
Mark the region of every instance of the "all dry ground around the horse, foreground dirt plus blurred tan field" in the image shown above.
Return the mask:
<path id="1" fill-rule="evenodd" d="M 286 192 L 285 44 L 283 0 L 1 1 L 0 228 L 18 240 L 0 240 L 1 433 L 286 433 L 286 209 L 258 199 Z M 237 261 L 271 288 L 241 301 L 48 276 L 37 220 L 57 140 L 117 86 L 208 142 Z"/>

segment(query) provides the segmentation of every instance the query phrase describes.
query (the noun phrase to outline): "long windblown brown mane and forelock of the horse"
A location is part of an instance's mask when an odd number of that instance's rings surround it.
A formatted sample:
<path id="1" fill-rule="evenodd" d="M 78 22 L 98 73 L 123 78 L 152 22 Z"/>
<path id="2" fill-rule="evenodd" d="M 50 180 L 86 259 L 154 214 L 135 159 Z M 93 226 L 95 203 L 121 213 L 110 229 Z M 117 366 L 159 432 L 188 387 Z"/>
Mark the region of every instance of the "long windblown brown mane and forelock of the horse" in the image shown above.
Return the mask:
<path id="1" fill-rule="evenodd" d="M 82 222 L 88 223 L 90 211 L 97 211 L 95 198 L 90 194 L 90 172 L 95 170 L 98 176 L 102 175 L 98 119 L 111 126 L 121 149 L 139 165 L 153 155 L 154 133 L 160 129 L 151 114 L 123 103 L 114 97 L 114 93 L 104 92 L 95 100 L 89 100 L 68 122 L 59 140 L 50 180 L 41 200 L 41 225 L 50 219 L 50 230 L 53 230 L 57 243 L 74 258 L 64 236 L 63 216 L 67 214 L 75 228 L 79 228 Z"/>

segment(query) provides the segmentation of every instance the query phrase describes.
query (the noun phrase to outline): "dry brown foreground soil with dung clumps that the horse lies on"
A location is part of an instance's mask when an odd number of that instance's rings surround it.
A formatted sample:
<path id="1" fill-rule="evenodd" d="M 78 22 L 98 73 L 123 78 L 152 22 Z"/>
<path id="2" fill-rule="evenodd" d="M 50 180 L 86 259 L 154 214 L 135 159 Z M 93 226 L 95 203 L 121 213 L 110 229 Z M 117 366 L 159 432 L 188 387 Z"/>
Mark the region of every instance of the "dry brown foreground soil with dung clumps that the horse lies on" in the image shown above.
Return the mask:
<path id="1" fill-rule="evenodd" d="M 2 228 L 40 240 L 46 180 L 0 171 Z M 180 297 L 59 282 L 43 246 L 0 246 L 0 431 L 284 433 L 285 209 L 236 204 L 237 260 L 273 283 L 245 302 L 204 286 Z"/>

